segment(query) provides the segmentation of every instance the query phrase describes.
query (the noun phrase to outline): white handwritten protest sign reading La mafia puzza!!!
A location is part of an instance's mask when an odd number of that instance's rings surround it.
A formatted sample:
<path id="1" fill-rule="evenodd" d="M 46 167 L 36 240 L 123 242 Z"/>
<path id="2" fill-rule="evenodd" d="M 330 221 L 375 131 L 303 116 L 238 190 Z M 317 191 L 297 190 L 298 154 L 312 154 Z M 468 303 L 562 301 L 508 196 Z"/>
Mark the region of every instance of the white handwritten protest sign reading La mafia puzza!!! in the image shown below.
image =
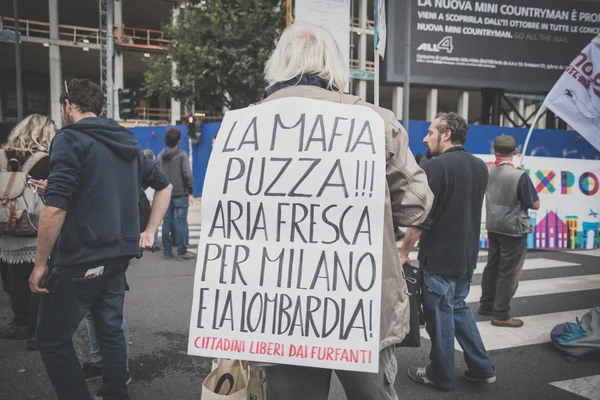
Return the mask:
<path id="1" fill-rule="evenodd" d="M 378 370 L 384 132 L 367 107 L 302 98 L 225 115 L 189 354 Z"/>

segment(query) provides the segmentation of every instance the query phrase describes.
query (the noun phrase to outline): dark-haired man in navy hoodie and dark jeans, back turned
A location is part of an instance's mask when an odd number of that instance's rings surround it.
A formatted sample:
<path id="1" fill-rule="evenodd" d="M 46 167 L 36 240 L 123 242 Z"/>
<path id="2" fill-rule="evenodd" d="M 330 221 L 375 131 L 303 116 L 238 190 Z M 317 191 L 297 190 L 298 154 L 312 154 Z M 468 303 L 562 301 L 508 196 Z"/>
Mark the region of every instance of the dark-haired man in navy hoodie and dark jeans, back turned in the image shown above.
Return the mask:
<path id="1" fill-rule="evenodd" d="M 42 295 L 37 344 L 58 398 L 91 399 L 72 342 L 91 312 L 103 356 L 103 382 L 95 398 L 129 399 L 121 329 L 124 275 L 131 258 L 152 248 L 171 185 L 130 131 L 98 118 L 104 95 L 97 84 L 65 82 L 60 103 L 67 125 L 50 149 L 46 204 L 29 280 L 32 292 Z M 142 186 L 156 193 L 148 227 L 140 235 Z"/>

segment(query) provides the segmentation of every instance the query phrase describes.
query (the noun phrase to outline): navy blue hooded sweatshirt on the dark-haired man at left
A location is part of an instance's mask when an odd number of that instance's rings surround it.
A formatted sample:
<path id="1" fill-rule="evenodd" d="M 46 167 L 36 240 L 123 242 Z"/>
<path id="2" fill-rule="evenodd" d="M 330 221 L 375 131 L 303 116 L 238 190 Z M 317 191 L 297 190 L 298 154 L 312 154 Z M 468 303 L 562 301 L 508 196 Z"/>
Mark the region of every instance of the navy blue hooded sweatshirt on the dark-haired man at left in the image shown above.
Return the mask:
<path id="1" fill-rule="evenodd" d="M 46 205 L 67 211 L 53 266 L 139 254 L 139 191 L 160 191 L 166 175 L 115 121 L 84 118 L 63 127 L 50 149 Z"/>

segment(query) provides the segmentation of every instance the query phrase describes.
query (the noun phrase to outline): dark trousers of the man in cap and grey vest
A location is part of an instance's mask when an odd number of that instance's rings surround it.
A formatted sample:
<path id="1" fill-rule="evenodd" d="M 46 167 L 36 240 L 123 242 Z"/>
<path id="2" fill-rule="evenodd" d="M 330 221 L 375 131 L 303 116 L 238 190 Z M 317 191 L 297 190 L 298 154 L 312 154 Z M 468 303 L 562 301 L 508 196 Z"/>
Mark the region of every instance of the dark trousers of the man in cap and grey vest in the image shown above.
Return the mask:
<path id="1" fill-rule="evenodd" d="M 512 237 L 490 232 L 488 263 L 481 279 L 480 311 L 492 313 L 496 320 L 510 319 L 510 301 L 519 287 L 527 255 L 527 237 Z"/>

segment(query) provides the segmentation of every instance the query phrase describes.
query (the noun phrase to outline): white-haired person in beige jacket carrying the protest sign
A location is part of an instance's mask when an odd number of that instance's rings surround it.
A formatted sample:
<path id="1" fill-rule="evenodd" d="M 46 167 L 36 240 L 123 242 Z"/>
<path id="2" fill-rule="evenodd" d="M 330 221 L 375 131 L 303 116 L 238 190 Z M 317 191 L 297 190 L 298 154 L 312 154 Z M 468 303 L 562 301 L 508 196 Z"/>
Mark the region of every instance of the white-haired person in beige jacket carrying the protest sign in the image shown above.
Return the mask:
<path id="1" fill-rule="evenodd" d="M 348 67 L 331 33 L 296 23 L 286 29 L 267 62 L 265 77 L 270 86 L 263 102 L 285 97 L 344 102 L 369 107 L 383 118 L 387 188 L 381 298 L 379 372 L 336 371 L 349 400 L 396 400 L 394 381 L 398 367 L 394 347 L 409 330 L 406 283 L 394 239 L 394 224 L 418 226 L 425 221 L 433 194 L 425 173 L 408 149 L 408 135 L 394 114 L 343 94 Z M 276 400 L 326 400 L 331 370 L 289 365 L 266 368 L 267 397 Z"/>

